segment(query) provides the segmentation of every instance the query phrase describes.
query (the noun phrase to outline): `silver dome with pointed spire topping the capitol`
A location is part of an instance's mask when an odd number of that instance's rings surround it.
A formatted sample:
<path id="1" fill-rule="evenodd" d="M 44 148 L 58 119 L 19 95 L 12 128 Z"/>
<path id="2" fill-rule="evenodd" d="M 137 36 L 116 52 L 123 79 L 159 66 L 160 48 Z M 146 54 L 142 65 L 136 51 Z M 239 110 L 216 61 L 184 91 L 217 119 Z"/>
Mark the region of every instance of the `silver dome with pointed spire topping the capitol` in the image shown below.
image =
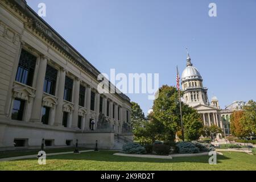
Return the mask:
<path id="1" fill-rule="evenodd" d="M 199 78 L 202 79 L 199 71 L 196 69 L 196 67 L 193 67 L 193 64 L 191 63 L 191 59 L 187 57 L 187 67 L 184 69 L 181 75 L 181 81 L 193 79 L 193 78 Z"/>

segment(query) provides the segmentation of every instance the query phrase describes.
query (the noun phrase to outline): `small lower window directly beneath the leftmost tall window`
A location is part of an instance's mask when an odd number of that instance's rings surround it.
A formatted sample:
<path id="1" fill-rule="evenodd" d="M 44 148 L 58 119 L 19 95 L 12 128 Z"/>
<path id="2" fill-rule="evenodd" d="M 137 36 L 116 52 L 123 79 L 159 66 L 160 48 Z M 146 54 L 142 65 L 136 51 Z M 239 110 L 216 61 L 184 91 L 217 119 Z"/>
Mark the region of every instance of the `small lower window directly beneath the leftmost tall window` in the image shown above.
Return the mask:
<path id="1" fill-rule="evenodd" d="M 24 113 L 25 101 L 16 98 L 13 101 L 13 111 L 11 113 L 11 119 L 22 121 Z"/>

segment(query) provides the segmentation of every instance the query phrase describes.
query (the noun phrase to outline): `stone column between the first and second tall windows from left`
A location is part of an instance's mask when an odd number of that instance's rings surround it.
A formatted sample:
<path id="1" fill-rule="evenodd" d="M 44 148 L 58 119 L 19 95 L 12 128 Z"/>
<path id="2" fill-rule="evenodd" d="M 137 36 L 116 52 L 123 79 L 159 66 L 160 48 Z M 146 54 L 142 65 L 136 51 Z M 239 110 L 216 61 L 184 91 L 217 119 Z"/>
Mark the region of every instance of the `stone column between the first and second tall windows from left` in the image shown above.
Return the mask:
<path id="1" fill-rule="evenodd" d="M 32 122 L 41 121 L 42 97 L 44 88 L 44 78 L 46 77 L 47 57 L 41 56 L 39 61 L 38 77 L 36 78 L 36 92 L 34 104 L 31 111 Z"/>

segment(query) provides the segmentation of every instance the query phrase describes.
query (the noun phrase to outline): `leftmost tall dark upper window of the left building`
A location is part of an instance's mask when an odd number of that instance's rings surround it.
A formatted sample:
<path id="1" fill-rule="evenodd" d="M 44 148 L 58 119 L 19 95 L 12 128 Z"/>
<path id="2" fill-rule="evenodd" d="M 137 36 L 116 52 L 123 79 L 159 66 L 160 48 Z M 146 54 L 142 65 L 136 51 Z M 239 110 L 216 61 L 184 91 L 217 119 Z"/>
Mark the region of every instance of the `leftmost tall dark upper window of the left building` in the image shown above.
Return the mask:
<path id="1" fill-rule="evenodd" d="M 22 84 L 32 86 L 35 64 L 36 56 L 22 49 L 15 80 Z"/>

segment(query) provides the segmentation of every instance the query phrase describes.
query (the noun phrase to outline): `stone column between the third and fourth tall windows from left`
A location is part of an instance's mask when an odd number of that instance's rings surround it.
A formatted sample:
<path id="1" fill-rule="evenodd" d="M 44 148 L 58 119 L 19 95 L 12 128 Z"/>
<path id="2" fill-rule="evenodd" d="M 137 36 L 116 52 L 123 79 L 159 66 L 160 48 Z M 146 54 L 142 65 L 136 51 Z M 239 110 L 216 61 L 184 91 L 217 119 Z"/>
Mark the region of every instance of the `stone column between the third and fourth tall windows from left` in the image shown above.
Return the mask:
<path id="1" fill-rule="evenodd" d="M 80 78 L 75 78 L 75 89 L 74 89 L 74 110 L 72 127 L 77 129 L 78 123 L 78 111 L 79 111 L 79 91 L 80 91 Z"/>

